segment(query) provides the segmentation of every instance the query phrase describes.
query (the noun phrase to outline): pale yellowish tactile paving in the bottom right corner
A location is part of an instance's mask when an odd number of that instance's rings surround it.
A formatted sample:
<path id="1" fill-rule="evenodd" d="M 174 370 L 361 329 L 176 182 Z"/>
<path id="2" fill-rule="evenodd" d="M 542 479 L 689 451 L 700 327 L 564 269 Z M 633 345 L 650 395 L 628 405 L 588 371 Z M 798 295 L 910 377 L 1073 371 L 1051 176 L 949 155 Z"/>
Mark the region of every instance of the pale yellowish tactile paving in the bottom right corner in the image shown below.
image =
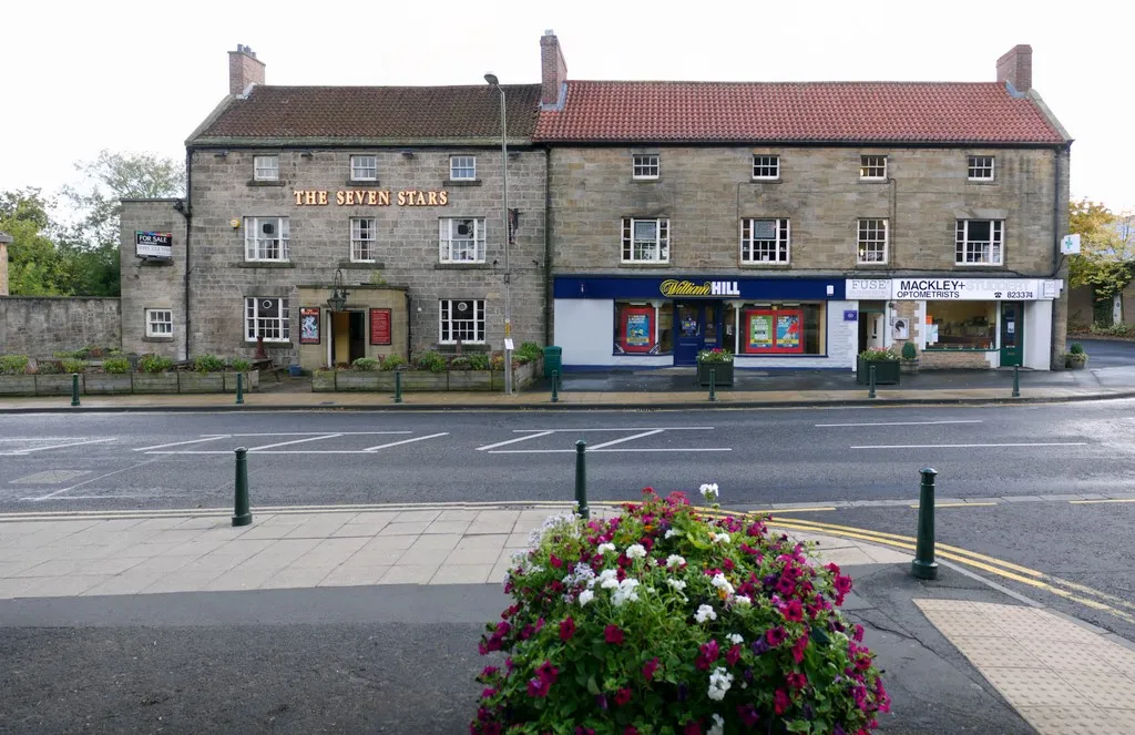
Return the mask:
<path id="1" fill-rule="evenodd" d="M 915 604 L 1041 735 L 1135 733 L 1135 650 L 1036 608 Z"/>

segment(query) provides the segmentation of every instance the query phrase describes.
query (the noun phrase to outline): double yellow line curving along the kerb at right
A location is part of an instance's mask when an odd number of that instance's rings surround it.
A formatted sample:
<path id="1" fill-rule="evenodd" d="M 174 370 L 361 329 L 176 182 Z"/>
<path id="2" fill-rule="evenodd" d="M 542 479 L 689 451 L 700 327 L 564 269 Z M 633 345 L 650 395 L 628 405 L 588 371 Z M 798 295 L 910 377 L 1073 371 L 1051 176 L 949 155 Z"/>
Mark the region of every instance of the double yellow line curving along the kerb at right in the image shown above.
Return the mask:
<path id="1" fill-rule="evenodd" d="M 738 515 L 708 509 L 706 512 L 716 516 Z M 804 533 L 826 534 L 830 536 L 840 536 L 842 538 L 867 541 L 896 549 L 903 549 L 906 551 L 910 551 L 911 556 L 914 554 L 915 544 L 917 543 L 917 538 L 913 536 L 901 536 L 880 531 L 869 531 L 867 528 L 817 523 L 800 518 L 784 518 L 783 516 L 774 516 L 767 525 L 770 527 L 783 528 L 787 531 L 800 531 Z M 934 553 L 938 558 L 948 559 L 967 567 L 973 567 L 974 569 L 981 569 L 982 571 L 997 575 L 1004 579 L 1011 579 L 1029 587 L 1043 590 L 1050 594 L 1063 598 L 1065 600 L 1070 600 L 1071 602 L 1092 608 L 1093 610 L 1107 612 L 1119 618 L 1120 620 L 1135 625 L 1135 616 L 1128 612 L 1128 610 L 1135 611 L 1135 603 L 1117 598 L 1116 595 L 1108 594 L 1107 592 L 1101 592 L 1093 587 L 1070 582 L 1068 579 L 1061 579 L 1060 577 L 1054 577 L 1052 575 L 1044 574 L 1043 571 L 1037 571 L 1036 569 L 1029 569 L 1028 567 L 1023 567 L 1020 565 L 1012 563 L 1011 561 L 1003 561 L 994 557 L 989 557 L 975 551 L 968 551 L 966 549 L 959 549 L 958 546 L 951 546 L 949 544 L 936 543 Z"/>

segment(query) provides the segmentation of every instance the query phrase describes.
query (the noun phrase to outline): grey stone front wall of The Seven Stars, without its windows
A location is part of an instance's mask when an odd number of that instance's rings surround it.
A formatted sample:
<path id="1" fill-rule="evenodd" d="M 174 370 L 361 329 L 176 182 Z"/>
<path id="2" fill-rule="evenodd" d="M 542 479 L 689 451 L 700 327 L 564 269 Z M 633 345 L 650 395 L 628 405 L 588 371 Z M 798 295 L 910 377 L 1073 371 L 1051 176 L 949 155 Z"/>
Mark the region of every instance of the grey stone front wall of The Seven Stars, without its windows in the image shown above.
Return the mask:
<path id="1" fill-rule="evenodd" d="M 299 284 L 331 283 L 335 270 L 352 284 L 403 287 L 410 303 L 411 348 L 436 349 L 440 299 L 484 299 L 486 340 L 503 349 L 504 247 L 499 150 L 402 149 L 280 150 L 280 181 L 253 182 L 252 151 L 195 150 L 192 153 L 191 352 L 251 356 L 255 344 L 244 336 L 244 298 L 287 298 L 291 341 L 266 343 L 278 362 L 296 357 Z M 350 182 L 350 156 L 376 154 L 378 182 Z M 449 156 L 477 158 L 476 182 L 449 181 Z M 519 209 L 511 248 L 513 336 L 544 340 L 544 203 L 545 153 L 510 152 L 508 206 Z M 445 191 L 447 203 L 398 206 L 405 191 Z M 296 191 L 326 191 L 326 203 L 296 203 Z M 339 204 L 336 192 L 367 192 L 361 204 Z M 389 192 L 390 204 L 370 204 L 370 192 Z M 306 199 L 301 194 L 301 202 Z M 289 218 L 288 264 L 245 262 L 244 218 Z M 351 262 L 352 217 L 377 219 L 376 264 Z M 484 217 L 486 262 L 440 264 L 439 220 Z M 234 226 L 233 222 L 237 225 Z M 329 295 L 329 294 L 328 294 Z M 325 296 L 326 300 L 326 296 Z M 347 308 L 351 308 L 348 296 Z"/>

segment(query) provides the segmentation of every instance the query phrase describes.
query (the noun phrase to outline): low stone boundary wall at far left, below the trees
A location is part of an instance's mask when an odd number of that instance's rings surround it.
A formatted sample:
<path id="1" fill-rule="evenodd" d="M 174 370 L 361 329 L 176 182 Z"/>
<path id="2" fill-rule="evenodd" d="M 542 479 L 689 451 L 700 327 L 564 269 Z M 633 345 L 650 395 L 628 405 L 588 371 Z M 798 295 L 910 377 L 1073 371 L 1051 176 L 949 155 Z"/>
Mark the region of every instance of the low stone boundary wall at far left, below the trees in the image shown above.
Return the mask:
<path id="1" fill-rule="evenodd" d="M 0 296 L 0 354 L 51 357 L 87 345 L 121 345 L 118 299 Z"/>

